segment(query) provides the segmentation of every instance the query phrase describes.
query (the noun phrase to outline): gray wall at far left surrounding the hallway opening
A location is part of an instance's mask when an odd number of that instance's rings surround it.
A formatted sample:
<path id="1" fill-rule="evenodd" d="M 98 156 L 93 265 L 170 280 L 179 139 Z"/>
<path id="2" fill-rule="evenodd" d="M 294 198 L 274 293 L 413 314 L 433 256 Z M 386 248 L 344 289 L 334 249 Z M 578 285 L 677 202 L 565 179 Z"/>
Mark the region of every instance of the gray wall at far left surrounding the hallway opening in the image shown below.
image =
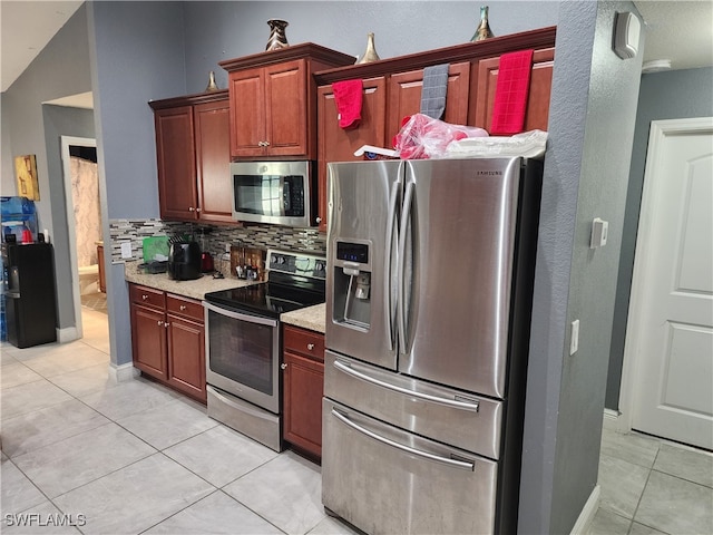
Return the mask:
<path id="1" fill-rule="evenodd" d="M 81 7 L 22 76 L 2 94 L 2 195 L 17 195 L 12 157 L 37 156 L 40 228 L 55 244 L 58 324 L 75 325 L 67 211 L 59 136 L 94 137 L 91 111 L 57 111 L 42 103 L 91 90 L 87 14 Z"/>

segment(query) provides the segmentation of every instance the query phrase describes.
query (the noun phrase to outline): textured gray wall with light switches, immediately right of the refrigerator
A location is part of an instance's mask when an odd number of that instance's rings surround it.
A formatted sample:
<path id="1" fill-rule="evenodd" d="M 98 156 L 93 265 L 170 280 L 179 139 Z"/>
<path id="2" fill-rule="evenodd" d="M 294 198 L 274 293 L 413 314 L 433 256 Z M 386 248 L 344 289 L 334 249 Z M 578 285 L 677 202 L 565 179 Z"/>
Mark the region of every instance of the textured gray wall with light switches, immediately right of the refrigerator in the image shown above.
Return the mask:
<path id="1" fill-rule="evenodd" d="M 612 50 L 631 2 L 560 4 L 526 406 L 521 533 L 569 533 L 597 483 L 642 54 Z M 589 249 L 592 220 L 609 222 Z M 569 325 L 579 319 L 579 350 Z M 533 497 L 536 497 L 533 499 Z"/>

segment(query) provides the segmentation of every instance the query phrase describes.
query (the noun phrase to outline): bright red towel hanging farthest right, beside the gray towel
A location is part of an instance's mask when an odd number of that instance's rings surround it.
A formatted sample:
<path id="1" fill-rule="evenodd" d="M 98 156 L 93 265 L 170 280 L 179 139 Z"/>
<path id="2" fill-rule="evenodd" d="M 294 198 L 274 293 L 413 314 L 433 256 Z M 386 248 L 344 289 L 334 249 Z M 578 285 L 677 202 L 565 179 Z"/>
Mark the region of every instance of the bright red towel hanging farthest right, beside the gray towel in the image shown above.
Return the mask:
<path id="1" fill-rule="evenodd" d="M 533 50 L 500 56 L 498 85 L 492 105 L 491 135 L 510 136 L 522 132 L 531 71 Z"/>

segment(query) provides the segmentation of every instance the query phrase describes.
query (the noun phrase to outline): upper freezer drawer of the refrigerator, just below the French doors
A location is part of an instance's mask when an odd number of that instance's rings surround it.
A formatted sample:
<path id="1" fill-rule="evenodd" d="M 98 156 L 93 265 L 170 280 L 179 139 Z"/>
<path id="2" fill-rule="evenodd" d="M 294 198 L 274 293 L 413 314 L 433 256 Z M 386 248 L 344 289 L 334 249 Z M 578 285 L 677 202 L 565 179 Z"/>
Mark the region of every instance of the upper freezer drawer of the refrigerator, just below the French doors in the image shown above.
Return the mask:
<path id="1" fill-rule="evenodd" d="M 324 396 L 418 435 L 500 458 L 504 401 L 419 381 L 330 350 Z"/>

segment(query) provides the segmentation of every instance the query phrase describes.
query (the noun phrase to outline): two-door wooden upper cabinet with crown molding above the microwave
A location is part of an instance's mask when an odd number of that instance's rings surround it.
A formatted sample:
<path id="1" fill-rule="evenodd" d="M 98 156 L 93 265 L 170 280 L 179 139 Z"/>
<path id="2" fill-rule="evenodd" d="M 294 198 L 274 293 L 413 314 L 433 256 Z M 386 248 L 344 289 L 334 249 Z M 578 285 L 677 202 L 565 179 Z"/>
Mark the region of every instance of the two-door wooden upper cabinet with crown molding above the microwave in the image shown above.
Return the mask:
<path id="1" fill-rule="evenodd" d="M 312 74 L 353 62 L 311 42 L 221 61 L 228 71 L 231 157 L 316 159 Z"/>

